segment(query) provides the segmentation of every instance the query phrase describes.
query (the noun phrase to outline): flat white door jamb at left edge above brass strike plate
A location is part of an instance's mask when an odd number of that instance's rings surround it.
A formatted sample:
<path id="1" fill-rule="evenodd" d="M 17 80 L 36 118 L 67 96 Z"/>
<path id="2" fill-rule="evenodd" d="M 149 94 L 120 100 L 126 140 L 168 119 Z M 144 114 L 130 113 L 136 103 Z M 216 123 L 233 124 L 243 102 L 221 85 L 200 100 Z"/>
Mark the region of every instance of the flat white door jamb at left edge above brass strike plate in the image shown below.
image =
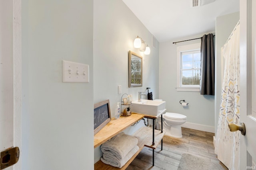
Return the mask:
<path id="1" fill-rule="evenodd" d="M 10 9 L 12 1 L 0 1 L 0 151 L 13 146 L 13 12 Z"/>

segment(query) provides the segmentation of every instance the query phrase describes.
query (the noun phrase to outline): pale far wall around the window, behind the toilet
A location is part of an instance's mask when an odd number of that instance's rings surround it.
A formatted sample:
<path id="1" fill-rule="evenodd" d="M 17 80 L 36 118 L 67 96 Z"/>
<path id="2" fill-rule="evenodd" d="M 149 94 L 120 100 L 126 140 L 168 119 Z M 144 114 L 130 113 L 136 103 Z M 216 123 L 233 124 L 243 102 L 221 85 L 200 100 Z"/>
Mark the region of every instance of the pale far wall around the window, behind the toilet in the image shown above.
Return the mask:
<path id="1" fill-rule="evenodd" d="M 207 33 L 206 33 L 207 34 Z M 177 55 L 176 48 L 181 45 L 200 43 L 201 39 L 173 44 L 176 41 L 202 37 L 204 34 L 183 37 L 160 43 L 159 47 L 159 98 L 166 101 L 167 112 L 187 116 L 183 127 L 214 132 L 214 96 L 200 95 L 200 92 L 177 92 Z M 186 100 L 182 107 L 180 100 Z"/>

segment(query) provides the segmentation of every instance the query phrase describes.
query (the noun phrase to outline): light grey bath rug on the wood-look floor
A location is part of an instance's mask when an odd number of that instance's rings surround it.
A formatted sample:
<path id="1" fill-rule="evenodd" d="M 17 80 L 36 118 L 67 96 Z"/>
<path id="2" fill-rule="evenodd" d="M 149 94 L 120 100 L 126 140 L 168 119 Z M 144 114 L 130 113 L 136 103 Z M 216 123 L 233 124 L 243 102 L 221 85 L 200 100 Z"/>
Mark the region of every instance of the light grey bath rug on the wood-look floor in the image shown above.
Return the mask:
<path id="1" fill-rule="evenodd" d="M 204 160 L 191 154 L 182 154 L 178 170 L 228 170 L 222 163 Z"/>

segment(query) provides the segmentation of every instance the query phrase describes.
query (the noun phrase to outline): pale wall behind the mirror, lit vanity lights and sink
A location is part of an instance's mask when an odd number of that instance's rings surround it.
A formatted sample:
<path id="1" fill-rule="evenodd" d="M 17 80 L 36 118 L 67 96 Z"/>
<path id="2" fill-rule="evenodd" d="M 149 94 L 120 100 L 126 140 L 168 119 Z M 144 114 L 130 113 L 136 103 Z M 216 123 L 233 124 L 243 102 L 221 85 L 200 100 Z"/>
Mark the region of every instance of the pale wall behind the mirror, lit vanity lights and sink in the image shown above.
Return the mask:
<path id="1" fill-rule="evenodd" d="M 133 41 L 139 35 L 151 49 L 150 55 L 144 55 L 133 47 Z M 121 0 L 94 0 L 94 103 L 110 100 L 110 112 L 114 117 L 117 102 L 121 102 L 124 93 L 132 94 L 138 100 L 138 92 L 150 87 L 153 98 L 158 98 L 158 49 L 152 47 L 152 34 Z M 128 51 L 134 51 L 143 57 L 143 86 L 128 88 Z M 122 94 L 118 94 L 118 85 Z M 125 132 L 132 134 L 138 125 Z M 99 147 L 94 150 L 94 161 L 100 159 Z"/>

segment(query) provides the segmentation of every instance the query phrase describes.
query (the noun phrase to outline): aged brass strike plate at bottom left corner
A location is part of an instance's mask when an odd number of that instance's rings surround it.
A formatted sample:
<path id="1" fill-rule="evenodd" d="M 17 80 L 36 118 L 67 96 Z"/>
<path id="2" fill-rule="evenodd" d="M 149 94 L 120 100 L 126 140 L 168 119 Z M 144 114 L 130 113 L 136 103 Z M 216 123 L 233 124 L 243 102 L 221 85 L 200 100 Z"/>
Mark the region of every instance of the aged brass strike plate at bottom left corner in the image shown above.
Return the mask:
<path id="1" fill-rule="evenodd" d="M 19 147 L 12 147 L 2 151 L 0 154 L 0 170 L 16 164 L 19 157 Z"/>

